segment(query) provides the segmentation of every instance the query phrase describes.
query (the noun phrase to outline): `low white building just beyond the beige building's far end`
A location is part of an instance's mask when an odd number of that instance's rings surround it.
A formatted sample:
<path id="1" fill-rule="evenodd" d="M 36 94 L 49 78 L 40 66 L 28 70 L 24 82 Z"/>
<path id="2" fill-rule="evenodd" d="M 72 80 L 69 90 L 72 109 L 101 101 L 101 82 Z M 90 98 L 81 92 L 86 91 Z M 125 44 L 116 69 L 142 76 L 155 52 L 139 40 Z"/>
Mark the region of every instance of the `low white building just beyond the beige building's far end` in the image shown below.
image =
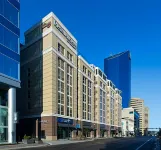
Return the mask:
<path id="1" fill-rule="evenodd" d="M 132 107 L 123 108 L 122 121 L 124 122 L 125 120 L 130 120 L 133 122 L 133 124 L 130 124 L 130 126 L 128 126 L 129 129 L 127 130 L 127 132 L 125 132 L 124 129 L 124 135 L 139 135 L 139 113 Z M 123 124 L 126 126 L 126 123 Z"/>

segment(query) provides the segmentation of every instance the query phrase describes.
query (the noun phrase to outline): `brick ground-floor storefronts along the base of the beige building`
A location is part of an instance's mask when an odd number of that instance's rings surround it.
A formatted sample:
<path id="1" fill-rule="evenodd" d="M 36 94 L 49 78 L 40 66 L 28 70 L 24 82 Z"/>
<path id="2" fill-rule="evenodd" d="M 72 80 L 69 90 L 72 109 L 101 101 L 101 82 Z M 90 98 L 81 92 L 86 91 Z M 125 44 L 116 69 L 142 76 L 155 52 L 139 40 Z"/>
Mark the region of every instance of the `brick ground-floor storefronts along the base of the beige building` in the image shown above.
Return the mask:
<path id="1" fill-rule="evenodd" d="M 110 137 L 110 126 L 56 116 L 24 118 L 18 126 L 20 139 L 24 135 L 46 140 Z"/>

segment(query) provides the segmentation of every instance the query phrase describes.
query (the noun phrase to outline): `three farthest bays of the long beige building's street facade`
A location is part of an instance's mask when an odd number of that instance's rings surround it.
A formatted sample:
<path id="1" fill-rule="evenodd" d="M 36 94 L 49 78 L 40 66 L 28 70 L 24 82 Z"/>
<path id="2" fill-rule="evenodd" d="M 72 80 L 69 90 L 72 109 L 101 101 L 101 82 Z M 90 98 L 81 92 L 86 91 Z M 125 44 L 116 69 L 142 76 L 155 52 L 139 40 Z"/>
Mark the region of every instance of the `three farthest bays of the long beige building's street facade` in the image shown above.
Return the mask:
<path id="1" fill-rule="evenodd" d="M 98 137 L 114 136 L 121 133 L 121 91 L 107 79 L 104 72 L 91 65 L 95 70 L 95 122 Z"/>

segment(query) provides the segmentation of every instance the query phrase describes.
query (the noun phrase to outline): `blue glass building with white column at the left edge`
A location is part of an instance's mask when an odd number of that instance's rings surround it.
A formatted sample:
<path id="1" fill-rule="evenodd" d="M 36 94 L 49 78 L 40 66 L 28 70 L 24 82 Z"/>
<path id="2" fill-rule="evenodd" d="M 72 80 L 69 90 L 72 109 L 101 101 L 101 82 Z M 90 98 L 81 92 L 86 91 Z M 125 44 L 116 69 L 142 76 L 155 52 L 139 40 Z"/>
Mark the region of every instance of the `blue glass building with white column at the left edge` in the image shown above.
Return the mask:
<path id="1" fill-rule="evenodd" d="M 16 142 L 16 88 L 20 88 L 19 0 L 0 0 L 0 143 Z"/>

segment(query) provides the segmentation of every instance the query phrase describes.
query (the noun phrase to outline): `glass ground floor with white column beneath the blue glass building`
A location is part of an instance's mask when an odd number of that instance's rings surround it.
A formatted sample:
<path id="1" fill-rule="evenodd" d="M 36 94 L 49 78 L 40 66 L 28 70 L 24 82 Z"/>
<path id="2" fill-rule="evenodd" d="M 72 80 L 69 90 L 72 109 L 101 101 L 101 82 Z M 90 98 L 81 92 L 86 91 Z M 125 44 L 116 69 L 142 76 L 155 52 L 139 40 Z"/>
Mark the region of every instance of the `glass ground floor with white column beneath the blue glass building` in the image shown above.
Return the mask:
<path id="1" fill-rule="evenodd" d="M 0 143 L 16 143 L 16 88 L 0 85 Z"/>

